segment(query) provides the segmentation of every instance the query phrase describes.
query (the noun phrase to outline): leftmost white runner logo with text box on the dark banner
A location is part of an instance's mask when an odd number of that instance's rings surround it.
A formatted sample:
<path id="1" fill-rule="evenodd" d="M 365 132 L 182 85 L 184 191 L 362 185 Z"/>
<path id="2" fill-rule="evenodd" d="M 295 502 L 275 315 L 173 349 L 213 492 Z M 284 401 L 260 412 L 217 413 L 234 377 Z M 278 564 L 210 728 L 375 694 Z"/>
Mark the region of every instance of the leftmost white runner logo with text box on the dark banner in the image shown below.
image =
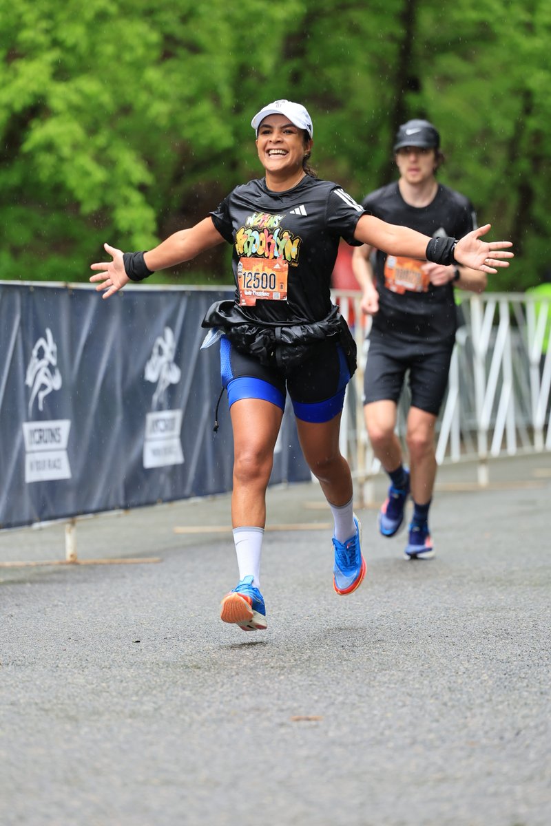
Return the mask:
<path id="1" fill-rule="evenodd" d="M 57 366 L 57 344 L 50 327 L 46 327 L 45 337 L 41 336 L 36 341 L 26 368 L 25 384 L 31 387 L 29 416 L 32 415 L 34 402 L 37 400 L 38 410 L 42 412 L 45 396 L 59 390 L 62 383 Z M 67 455 L 70 428 L 69 419 L 23 422 L 27 484 L 71 478 Z"/>

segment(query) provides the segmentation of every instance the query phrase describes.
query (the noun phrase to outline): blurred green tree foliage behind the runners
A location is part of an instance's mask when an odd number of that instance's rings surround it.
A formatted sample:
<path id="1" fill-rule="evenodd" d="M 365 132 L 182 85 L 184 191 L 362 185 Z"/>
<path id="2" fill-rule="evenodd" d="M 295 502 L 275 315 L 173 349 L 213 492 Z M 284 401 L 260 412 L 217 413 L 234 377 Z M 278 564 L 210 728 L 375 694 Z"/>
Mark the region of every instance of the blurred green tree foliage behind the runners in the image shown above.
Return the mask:
<path id="1" fill-rule="evenodd" d="M 429 117 L 443 182 L 515 242 L 491 287 L 549 269 L 549 0 L 0 0 L 0 21 L 0 278 L 84 281 L 103 241 L 200 220 L 261 172 L 250 118 L 277 97 L 306 104 L 314 164 L 356 197 Z M 227 262 L 175 274 L 228 282 Z"/>

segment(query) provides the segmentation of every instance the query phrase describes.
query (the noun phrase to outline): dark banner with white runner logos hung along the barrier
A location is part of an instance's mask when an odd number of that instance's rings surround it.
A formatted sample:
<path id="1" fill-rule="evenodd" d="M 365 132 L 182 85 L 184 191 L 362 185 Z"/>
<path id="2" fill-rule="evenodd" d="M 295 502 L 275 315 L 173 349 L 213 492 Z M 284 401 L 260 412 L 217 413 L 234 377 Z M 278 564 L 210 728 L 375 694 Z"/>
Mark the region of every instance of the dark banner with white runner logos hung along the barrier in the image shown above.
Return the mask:
<path id="1" fill-rule="evenodd" d="M 230 491 L 201 321 L 232 294 L 0 283 L 0 528 Z M 287 402 L 271 483 L 308 478 Z"/>

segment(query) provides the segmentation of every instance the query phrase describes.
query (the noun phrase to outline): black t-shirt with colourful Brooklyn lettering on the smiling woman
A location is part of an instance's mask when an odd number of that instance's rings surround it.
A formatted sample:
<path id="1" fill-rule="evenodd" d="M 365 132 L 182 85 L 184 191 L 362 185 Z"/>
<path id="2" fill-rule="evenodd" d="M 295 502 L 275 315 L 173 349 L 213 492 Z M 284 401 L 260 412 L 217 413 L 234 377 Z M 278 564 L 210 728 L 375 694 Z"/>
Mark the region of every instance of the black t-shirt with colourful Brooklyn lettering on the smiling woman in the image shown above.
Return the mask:
<path id="1" fill-rule="evenodd" d="M 286 192 L 268 189 L 264 178 L 236 187 L 211 212 L 216 230 L 233 244 L 236 303 L 253 320 L 325 318 L 339 240 L 358 244 L 354 230 L 362 215 L 362 207 L 338 184 L 310 175 Z M 280 271 L 287 300 L 278 300 L 284 295 Z M 244 304 L 245 293 L 254 295 L 254 306 Z"/>

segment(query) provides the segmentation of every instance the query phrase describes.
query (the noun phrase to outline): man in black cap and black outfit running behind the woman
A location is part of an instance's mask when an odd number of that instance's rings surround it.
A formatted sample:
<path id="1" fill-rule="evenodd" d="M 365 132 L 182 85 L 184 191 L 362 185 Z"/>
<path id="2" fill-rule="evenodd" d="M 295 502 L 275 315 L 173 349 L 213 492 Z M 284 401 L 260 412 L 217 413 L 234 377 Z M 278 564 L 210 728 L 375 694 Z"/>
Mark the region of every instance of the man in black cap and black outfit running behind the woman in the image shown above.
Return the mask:
<path id="1" fill-rule="evenodd" d="M 400 178 L 365 197 L 363 208 L 382 221 L 435 239 L 463 238 L 475 229 L 476 216 L 468 198 L 436 178 L 444 161 L 439 147 L 439 133 L 429 121 L 407 121 L 400 126 L 394 143 Z M 413 517 L 405 556 L 431 558 L 435 555 L 429 530 L 436 477 L 435 424 L 448 384 L 457 329 L 454 287 L 482 292 L 486 273 L 391 255 L 368 244 L 354 249 L 352 267 L 363 289 L 362 310 L 373 316 L 364 376 L 365 423 L 373 452 L 390 477 L 379 530 L 386 537 L 398 533 L 411 494 Z M 395 433 L 407 371 L 409 468 Z"/>

